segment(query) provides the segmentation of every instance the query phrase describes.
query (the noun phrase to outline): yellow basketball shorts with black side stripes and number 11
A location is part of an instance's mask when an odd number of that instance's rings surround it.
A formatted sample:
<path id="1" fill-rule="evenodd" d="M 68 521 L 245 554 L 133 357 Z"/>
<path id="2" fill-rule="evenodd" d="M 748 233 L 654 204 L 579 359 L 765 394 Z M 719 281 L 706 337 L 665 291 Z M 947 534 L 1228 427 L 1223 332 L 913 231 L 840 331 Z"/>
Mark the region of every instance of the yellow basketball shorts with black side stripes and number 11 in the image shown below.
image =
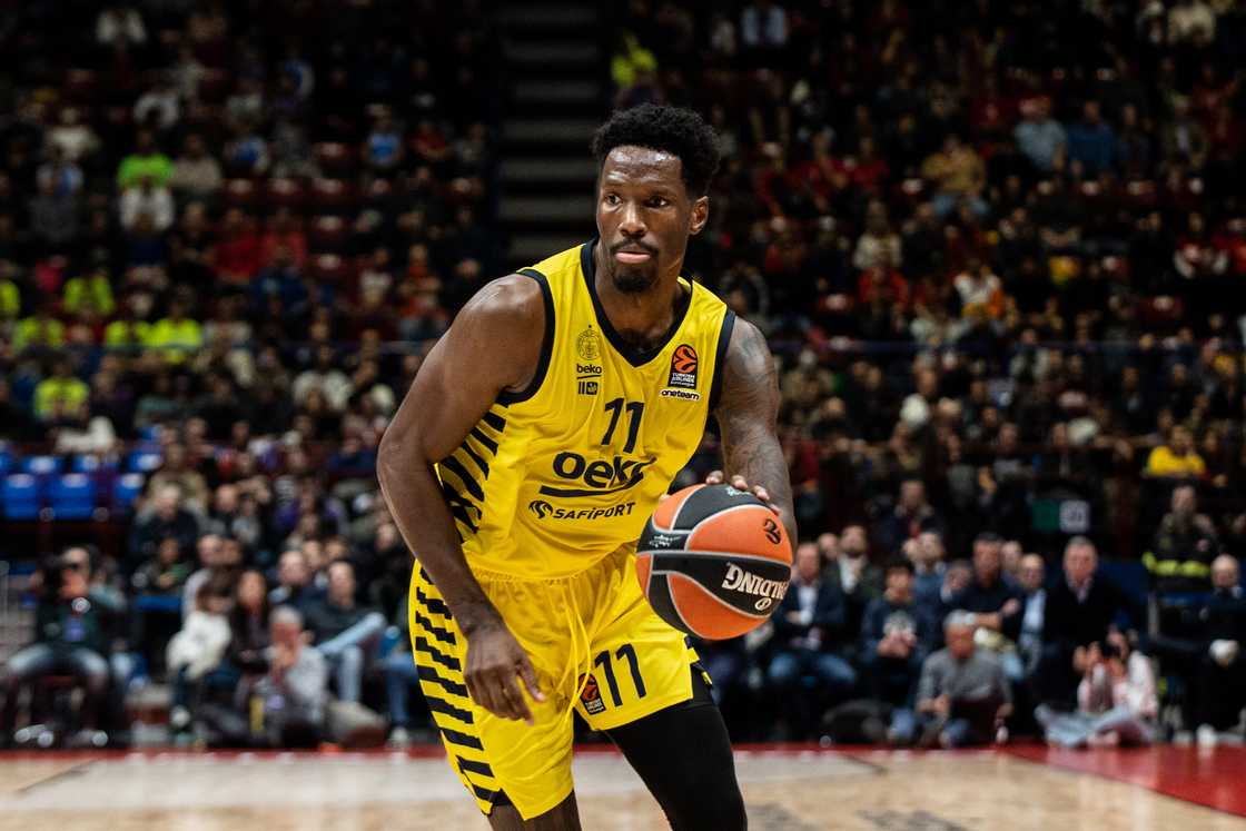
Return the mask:
<path id="1" fill-rule="evenodd" d="M 468 698 L 467 642 L 416 563 L 407 613 L 420 688 L 450 766 L 481 811 L 505 794 L 528 820 L 572 791 L 573 711 L 609 730 L 687 701 L 697 653 L 649 607 L 630 547 L 564 579 L 476 577 L 536 669 L 546 700 L 525 691 L 535 724 L 498 718 Z"/>

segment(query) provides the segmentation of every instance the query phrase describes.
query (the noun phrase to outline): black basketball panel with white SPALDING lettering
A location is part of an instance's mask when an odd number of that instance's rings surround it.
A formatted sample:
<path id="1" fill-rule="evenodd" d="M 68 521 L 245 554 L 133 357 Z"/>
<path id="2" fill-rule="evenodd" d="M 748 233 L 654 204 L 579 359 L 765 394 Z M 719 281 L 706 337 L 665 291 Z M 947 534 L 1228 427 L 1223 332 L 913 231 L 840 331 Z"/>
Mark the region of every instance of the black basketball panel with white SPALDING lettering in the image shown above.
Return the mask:
<path id="1" fill-rule="evenodd" d="M 650 583 L 658 583 L 657 577 L 667 573 L 682 574 L 694 581 L 738 612 L 769 614 L 787 591 L 791 567 L 731 553 L 655 552 Z M 665 588 L 667 582 L 660 581 L 660 583 Z M 765 603 L 764 599 L 770 599 L 771 603 Z"/>

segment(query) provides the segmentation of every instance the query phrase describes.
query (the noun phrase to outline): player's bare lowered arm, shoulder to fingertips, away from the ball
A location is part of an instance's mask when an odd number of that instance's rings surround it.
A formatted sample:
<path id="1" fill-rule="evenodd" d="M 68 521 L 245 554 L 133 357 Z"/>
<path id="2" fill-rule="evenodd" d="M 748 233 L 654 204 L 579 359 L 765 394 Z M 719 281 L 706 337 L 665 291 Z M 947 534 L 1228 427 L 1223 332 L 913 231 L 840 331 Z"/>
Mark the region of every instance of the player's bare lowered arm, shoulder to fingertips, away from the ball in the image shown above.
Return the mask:
<path id="1" fill-rule="evenodd" d="M 543 336 L 536 282 L 511 275 L 486 285 L 420 366 L 376 458 L 395 525 L 467 638 L 464 675 L 471 698 L 497 715 L 527 720 L 517 677 L 541 700 L 536 674 L 467 567 L 434 465 L 462 444 L 502 390 L 521 390 L 532 380 Z"/>

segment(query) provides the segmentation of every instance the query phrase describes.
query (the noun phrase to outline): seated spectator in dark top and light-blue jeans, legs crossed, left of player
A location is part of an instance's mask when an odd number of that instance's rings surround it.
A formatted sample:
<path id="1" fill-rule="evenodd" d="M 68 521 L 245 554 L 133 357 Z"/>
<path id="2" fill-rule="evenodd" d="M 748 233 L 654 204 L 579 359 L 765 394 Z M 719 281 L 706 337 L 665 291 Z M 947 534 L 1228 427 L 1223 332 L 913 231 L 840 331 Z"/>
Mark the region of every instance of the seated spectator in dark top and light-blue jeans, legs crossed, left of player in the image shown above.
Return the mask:
<path id="1" fill-rule="evenodd" d="M 338 698 L 359 701 L 364 670 L 385 632 L 385 615 L 355 599 L 355 568 L 345 559 L 328 568 L 329 591 L 308 605 L 308 627 L 316 650 L 324 655 L 336 680 Z"/>

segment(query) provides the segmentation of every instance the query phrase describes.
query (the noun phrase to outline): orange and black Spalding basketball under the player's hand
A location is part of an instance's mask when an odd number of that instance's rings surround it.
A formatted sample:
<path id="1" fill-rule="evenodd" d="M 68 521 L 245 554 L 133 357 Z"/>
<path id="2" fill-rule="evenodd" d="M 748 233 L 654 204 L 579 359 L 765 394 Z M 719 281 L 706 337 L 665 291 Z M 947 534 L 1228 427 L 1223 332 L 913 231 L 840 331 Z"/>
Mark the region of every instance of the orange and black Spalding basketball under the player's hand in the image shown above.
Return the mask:
<path id="1" fill-rule="evenodd" d="M 635 554 L 640 589 L 670 625 L 706 640 L 755 629 L 787 591 L 791 543 L 753 493 L 694 485 L 658 506 Z"/>

